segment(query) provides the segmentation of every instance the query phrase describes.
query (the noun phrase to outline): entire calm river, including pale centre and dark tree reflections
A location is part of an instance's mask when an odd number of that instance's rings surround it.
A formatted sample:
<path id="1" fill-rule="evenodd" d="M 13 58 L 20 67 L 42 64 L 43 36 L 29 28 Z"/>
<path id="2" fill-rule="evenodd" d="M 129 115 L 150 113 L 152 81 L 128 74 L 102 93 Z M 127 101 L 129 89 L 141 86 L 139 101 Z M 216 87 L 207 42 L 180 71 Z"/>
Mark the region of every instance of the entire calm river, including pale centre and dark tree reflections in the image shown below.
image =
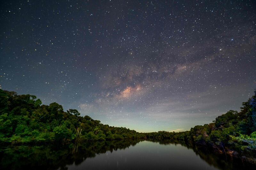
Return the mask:
<path id="1" fill-rule="evenodd" d="M 6 146 L 0 158 L 0 169 L 256 169 L 240 159 L 166 141 Z"/>

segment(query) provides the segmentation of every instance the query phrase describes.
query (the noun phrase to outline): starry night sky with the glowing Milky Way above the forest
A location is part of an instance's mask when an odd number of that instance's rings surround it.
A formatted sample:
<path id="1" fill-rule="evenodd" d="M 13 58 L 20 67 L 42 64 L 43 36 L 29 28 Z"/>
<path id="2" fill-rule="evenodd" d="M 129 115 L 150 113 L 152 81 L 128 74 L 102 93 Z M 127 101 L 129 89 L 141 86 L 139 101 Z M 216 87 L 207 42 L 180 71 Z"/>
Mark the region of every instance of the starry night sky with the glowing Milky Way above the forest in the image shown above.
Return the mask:
<path id="1" fill-rule="evenodd" d="M 252 1 L 5 1 L 0 88 L 110 126 L 184 131 L 256 88 Z"/>

